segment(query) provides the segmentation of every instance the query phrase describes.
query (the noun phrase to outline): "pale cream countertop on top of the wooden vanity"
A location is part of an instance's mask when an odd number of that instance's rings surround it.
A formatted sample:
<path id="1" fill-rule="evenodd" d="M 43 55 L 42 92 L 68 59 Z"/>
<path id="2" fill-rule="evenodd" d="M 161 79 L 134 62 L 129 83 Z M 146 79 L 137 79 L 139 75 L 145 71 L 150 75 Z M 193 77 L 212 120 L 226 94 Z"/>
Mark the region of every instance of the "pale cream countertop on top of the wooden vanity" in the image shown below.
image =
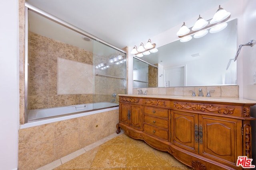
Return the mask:
<path id="1" fill-rule="evenodd" d="M 173 100 L 190 100 L 202 102 L 225 102 L 239 104 L 256 104 L 255 100 L 247 100 L 243 98 L 227 98 L 227 97 L 198 97 L 198 96 L 175 96 L 175 95 L 156 95 L 156 94 L 119 94 L 118 96 L 136 97 L 136 98 L 161 98 Z"/>

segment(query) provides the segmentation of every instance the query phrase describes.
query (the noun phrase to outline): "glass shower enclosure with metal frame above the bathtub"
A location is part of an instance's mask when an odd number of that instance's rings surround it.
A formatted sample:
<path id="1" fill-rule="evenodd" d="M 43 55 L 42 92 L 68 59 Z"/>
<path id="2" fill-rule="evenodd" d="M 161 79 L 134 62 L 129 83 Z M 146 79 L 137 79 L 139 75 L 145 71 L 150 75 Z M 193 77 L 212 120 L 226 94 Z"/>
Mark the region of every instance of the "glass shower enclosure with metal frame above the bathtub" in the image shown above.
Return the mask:
<path id="1" fill-rule="evenodd" d="M 126 94 L 126 49 L 118 49 L 26 4 L 25 120 L 30 110 L 118 106 Z"/>

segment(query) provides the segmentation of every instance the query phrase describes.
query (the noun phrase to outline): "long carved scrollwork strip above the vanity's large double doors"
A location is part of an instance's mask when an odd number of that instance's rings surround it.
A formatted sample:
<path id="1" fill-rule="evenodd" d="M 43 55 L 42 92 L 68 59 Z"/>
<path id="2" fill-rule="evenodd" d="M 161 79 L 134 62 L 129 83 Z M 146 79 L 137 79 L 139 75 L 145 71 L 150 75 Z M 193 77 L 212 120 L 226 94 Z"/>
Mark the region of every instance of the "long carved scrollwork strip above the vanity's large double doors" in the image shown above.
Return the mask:
<path id="1" fill-rule="evenodd" d="M 209 105 L 204 105 L 204 104 L 192 104 L 192 103 L 186 103 L 186 104 L 181 104 L 178 102 L 174 102 L 174 107 L 176 107 L 177 109 L 193 109 L 193 110 L 198 110 L 198 111 L 211 111 L 211 112 L 218 112 L 218 113 L 223 113 L 223 114 L 233 114 L 234 113 L 234 109 L 235 108 L 231 108 L 231 107 L 214 107 L 212 106 L 212 104 Z"/>

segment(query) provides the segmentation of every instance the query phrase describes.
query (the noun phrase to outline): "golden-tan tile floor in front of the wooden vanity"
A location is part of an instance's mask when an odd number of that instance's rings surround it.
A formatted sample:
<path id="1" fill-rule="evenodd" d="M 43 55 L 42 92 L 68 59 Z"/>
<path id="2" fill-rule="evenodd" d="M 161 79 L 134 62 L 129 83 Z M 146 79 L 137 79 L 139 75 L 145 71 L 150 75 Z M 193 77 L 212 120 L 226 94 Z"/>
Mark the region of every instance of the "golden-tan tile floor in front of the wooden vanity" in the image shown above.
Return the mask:
<path id="1" fill-rule="evenodd" d="M 125 133 L 58 166 L 54 170 L 192 170 L 168 152 Z"/>

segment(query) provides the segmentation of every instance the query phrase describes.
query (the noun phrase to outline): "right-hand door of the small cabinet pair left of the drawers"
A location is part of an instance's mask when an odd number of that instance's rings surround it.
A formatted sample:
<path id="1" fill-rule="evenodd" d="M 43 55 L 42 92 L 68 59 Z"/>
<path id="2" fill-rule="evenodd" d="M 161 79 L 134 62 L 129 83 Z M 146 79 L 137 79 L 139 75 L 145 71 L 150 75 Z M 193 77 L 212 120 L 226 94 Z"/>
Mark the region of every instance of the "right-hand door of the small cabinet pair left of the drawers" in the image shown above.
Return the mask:
<path id="1" fill-rule="evenodd" d="M 130 104 L 130 127 L 142 130 L 142 106 Z"/>

